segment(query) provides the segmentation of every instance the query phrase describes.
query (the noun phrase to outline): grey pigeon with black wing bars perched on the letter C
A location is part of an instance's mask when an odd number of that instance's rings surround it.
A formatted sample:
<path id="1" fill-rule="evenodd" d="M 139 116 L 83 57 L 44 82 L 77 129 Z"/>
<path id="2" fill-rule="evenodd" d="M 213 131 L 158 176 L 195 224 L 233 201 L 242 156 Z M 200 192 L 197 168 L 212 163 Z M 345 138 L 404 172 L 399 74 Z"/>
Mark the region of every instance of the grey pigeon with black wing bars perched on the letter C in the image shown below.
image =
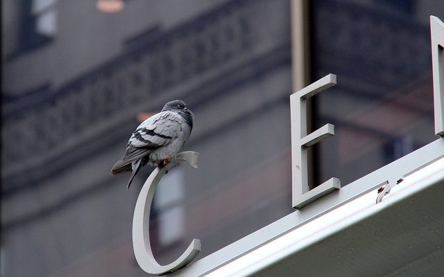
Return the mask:
<path id="1" fill-rule="evenodd" d="M 166 166 L 185 144 L 193 129 L 194 114 L 182 100 L 164 105 L 160 113 L 147 118 L 133 132 L 122 159 L 112 167 L 111 175 L 131 172 L 127 188 L 142 166 Z"/>

